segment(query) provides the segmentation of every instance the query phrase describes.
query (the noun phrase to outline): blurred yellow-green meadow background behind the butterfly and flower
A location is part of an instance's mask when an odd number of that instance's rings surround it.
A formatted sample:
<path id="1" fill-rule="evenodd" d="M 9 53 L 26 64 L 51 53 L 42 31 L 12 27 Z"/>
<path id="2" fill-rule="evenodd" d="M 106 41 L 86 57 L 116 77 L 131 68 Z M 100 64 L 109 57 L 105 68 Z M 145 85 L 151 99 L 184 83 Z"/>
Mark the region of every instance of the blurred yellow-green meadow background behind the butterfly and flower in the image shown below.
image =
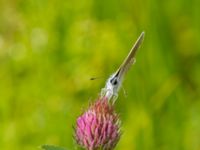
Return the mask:
<path id="1" fill-rule="evenodd" d="M 199 150 L 199 14 L 199 0 L 0 0 L 0 149 L 74 149 L 76 117 L 144 30 L 116 150 Z"/>

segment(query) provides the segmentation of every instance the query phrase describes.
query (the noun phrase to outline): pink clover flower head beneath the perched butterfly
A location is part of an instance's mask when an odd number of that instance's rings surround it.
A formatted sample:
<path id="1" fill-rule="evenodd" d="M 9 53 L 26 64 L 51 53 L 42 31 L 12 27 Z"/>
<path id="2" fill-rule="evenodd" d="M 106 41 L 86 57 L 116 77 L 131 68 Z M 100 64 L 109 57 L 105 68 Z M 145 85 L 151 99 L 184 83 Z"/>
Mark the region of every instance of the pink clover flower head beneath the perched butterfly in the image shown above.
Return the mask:
<path id="1" fill-rule="evenodd" d="M 75 139 L 87 150 L 113 150 L 120 135 L 119 116 L 106 97 L 95 101 L 77 119 Z"/>

